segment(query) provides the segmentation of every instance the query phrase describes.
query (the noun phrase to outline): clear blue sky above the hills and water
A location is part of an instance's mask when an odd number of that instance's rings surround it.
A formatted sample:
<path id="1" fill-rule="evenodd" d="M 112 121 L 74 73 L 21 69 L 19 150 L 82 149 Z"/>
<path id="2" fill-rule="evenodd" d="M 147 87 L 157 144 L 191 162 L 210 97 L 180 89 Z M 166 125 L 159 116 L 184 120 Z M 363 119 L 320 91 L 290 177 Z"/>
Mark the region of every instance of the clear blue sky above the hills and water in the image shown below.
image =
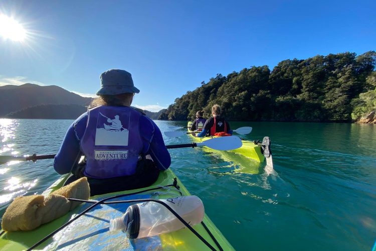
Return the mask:
<path id="1" fill-rule="evenodd" d="M 99 75 L 120 68 L 141 91 L 133 105 L 157 111 L 217 73 L 376 50 L 375 10 L 374 0 L 1 1 L 28 37 L 0 34 L 0 85 L 95 94 Z"/>

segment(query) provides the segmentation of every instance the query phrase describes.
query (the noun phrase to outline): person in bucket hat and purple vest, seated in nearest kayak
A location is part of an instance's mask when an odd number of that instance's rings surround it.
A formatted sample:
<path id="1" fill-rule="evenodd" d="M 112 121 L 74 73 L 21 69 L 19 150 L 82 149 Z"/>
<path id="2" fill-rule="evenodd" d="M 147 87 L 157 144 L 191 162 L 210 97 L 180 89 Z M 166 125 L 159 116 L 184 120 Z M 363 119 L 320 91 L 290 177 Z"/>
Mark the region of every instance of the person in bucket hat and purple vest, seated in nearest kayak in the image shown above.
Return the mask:
<path id="1" fill-rule="evenodd" d="M 54 160 L 59 174 L 72 172 L 66 184 L 87 177 L 91 196 L 147 187 L 171 164 L 162 134 L 143 113 L 130 107 L 139 90 L 129 72 L 101 74 L 91 108 L 69 127 Z M 78 164 L 85 156 L 85 163 Z"/>

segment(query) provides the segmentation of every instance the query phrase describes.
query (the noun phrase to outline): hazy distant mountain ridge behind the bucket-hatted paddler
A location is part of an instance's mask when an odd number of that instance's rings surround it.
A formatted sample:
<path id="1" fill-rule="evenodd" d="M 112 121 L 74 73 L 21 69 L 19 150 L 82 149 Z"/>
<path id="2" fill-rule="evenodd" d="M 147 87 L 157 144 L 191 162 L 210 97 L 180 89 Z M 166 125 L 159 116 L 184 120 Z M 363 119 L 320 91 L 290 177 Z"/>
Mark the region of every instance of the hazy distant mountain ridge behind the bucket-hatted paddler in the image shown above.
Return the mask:
<path id="1" fill-rule="evenodd" d="M 87 111 L 92 100 L 56 85 L 4 85 L 0 86 L 0 117 L 75 119 Z M 158 119 L 164 111 L 136 109 L 151 119 Z"/>

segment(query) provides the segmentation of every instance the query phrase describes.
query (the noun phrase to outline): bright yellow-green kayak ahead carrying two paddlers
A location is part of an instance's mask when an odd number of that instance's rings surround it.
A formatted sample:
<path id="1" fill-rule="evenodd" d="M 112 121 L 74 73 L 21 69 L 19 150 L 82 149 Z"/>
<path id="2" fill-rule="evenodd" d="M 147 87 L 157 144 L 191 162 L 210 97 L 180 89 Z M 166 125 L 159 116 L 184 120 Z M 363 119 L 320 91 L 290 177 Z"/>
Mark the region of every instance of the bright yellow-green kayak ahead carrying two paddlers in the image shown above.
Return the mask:
<path id="1" fill-rule="evenodd" d="M 190 131 L 191 126 L 192 126 L 192 121 L 189 121 L 188 125 L 187 125 L 188 133 L 191 133 L 191 131 Z M 189 135 L 194 139 L 195 142 L 204 142 L 204 141 L 210 140 L 212 138 L 217 138 L 217 137 L 213 137 L 213 136 L 198 138 L 198 137 L 194 137 L 192 134 L 189 134 Z M 245 156 L 247 158 L 255 160 L 259 163 L 264 162 L 265 157 L 261 153 L 261 146 L 260 145 L 257 145 L 255 143 L 253 143 L 252 141 L 247 141 L 247 140 L 242 140 L 242 143 L 243 143 L 243 146 L 241 148 L 230 150 L 228 152 L 240 154 L 242 156 Z M 217 151 L 217 152 L 222 152 L 222 151 Z"/>

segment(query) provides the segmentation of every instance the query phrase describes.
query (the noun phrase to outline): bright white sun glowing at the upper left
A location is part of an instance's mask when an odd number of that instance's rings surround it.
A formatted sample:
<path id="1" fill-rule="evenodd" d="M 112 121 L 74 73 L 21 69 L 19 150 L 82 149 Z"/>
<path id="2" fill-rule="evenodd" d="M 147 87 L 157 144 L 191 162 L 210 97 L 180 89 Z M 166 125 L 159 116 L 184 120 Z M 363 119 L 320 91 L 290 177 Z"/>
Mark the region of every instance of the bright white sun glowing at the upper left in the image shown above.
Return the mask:
<path id="1" fill-rule="evenodd" d="M 16 42 L 22 42 L 27 37 L 24 27 L 11 17 L 0 14 L 0 36 Z"/>

